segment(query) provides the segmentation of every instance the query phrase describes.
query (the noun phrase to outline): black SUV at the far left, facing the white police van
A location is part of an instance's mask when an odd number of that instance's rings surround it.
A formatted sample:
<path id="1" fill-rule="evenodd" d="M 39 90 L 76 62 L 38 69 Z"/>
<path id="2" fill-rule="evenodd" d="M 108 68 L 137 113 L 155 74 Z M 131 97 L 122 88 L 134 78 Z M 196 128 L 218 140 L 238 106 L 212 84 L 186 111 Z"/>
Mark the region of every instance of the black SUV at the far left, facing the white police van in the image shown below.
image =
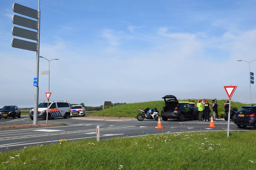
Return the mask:
<path id="1" fill-rule="evenodd" d="M 1 118 L 15 118 L 18 117 L 20 118 L 21 115 L 21 111 L 19 109 L 18 106 L 4 106 L 1 110 L 0 110 L 0 119 Z"/>

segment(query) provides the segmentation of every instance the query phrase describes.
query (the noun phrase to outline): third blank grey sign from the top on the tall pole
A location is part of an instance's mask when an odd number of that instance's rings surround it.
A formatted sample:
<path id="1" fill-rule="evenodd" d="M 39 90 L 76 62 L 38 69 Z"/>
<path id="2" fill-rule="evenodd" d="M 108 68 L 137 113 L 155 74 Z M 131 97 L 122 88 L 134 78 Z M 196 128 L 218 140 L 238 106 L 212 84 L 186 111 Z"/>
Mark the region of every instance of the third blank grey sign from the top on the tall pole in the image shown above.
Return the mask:
<path id="1" fill-rule="evenodd" d="M 16 26 L 13 26 L 12 28 L 12 34 L 14 36 L 22 37 L 22 38 L 28 38 L 32 40 L 37 40 L 37 32 L 26 30 L 23 28 L 19 28 Z"/>

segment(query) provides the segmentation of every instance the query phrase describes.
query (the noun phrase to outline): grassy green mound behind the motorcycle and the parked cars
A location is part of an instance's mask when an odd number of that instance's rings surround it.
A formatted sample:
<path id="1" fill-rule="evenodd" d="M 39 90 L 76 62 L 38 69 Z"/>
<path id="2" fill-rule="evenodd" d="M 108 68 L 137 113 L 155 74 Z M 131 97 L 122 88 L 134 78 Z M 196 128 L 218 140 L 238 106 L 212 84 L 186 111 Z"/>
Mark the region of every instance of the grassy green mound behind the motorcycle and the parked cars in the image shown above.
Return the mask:
<path id="1" fill-rule="evenodd" d="M 187 100 L 178 100 L 179 102 L 187 102 Z M 210 104 L 210 100 L 208 100 Z M 219 117 L 224 116 L 224 102 L 225 100 L 218 100 L 218 113 Z M 195 103 L 197 103 L 197 99 L 195 99 Z M 247 106 L 246 104 L 239 103 L 239 102 L 233 102 L 231 101 L 232 107 L 237 107 L 240 109 L 242 106 Z M 142 103 L 129 103 L 129 104 L 122 104 L 122 105 L 116 105 L 108 109 L 95 111 L 94 113 L 91 113 L 91 116 L 107 116 L 107 117 L 132 117 L 135 118 L 138 114 L 138 109 L 145 109 L 145 108 L 151 108 L 153 109 L 156 107 L 159 111 L 159 113 L 162 110 L 162 107 L 165 106 L 164 101 L 151 101 L 151 102 L 142 102 Z M 210 113 L 210 116 L 212 115 L 212 111 Z"/>

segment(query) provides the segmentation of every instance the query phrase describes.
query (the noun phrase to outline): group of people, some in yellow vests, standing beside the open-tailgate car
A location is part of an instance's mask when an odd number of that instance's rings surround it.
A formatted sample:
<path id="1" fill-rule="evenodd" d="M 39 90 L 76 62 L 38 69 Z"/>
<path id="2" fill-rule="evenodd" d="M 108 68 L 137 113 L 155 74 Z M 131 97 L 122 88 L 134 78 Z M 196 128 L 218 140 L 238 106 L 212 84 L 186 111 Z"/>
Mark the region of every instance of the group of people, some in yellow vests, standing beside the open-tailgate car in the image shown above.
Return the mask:
<path id="1" fill-rule="evenodd" d="M 191 100 L 188 101 L 189 104 L 194 104 L 195 107 L 198 108 L 198 119 L 199 121 L 210 121 L 210 108 L 212 108 L 213 112 L 213 121 L 216 121 L 219 119 L 218 115 L 218 104 L 217 104 L 217 98 L 212 100 L 212 104 L 210 105 L 208 100 L 205 98 L 203 100 L 197 100 L 197 104 L 194 102 L 194 99 L 192 98 Z M 215 116 L 216 115 L 216 116 Z"/>

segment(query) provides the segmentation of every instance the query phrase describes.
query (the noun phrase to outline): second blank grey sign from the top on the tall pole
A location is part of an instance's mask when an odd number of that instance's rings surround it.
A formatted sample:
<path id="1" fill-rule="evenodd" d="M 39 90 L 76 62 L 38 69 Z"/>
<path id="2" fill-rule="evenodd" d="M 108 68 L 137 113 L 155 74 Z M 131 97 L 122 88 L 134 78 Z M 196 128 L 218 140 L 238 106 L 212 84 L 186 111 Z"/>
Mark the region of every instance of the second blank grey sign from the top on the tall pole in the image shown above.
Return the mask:
<path id="1" fill-rule="evenodd" d="M 27 18 L 20 17 L 17 15 L 13 15 L 12 20 L 13 20 L 14 24 L 37 30 L 37 21 L 35 21 L 35 20 L 27 19 Z"/>

